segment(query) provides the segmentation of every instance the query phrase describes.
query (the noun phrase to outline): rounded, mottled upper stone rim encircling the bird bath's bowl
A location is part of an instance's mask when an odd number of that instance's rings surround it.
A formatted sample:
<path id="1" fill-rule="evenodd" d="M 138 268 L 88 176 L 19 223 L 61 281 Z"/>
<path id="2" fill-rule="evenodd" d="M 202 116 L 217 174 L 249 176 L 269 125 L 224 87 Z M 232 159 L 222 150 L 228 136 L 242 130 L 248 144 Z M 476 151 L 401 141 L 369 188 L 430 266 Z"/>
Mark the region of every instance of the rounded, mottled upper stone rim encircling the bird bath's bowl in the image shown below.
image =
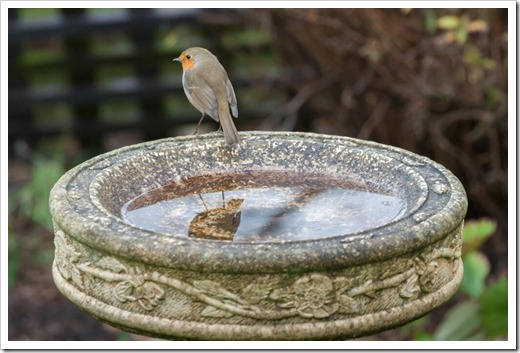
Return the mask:
<path id="1" fill-rule="evenodd" d="M 255 141 L 283 143 L 288 140 L 345 149 L 366 148 L 395 158 L 395 163 L 403 168 L 417 172 L 433 170 L 438 180 L 428 181 L 428 199 L 417 212 L 387 226 L 334 238 L 280 243 L 178 238 L 139 229 L 101 212 L 99 202 L 92 199 L 92 176 L 78 182 L 85 178 L 86 172 L 96 176 L 105 167 L 124 163 L 130 156 L 146 155 L 147 151 L 200 144 L 225 146 L 219 134 L 176 137 L 121 148 L 70 170 L 51 191 L 53 219 L 66 233 L 86 245 L 127 259 L 135 259 L 139 254 L 138 260 L 143 263 L 193 271 L 276 273 L 325 270 L 395 257 L 444 237 L 461 224 L 466 213 L 466 196 L 458 179 L 443 166 L 411 152 L 369 141 L 314 133 L 243 132 L 241 136 L 244 142 L 238 148 L 247 148 Z M 73 183 L 83 187 L 73 187 Z M 444 201 L 432 206 L 430 199 L 433 198 L 444 198 Z M 96 216 L 84 211 L 94 211 Z M 78 219 L 84 219 L 84 222 L 78 222 Z"/>

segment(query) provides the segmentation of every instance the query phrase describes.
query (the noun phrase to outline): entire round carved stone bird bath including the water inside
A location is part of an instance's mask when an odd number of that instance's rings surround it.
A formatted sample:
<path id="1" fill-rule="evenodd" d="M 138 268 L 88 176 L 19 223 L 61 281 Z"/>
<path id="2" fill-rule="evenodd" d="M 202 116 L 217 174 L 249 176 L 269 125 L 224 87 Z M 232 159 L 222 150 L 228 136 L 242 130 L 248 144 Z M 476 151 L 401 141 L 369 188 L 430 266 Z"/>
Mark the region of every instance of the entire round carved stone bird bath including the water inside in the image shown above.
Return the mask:
<path id="1" fill-rule="evenodd" d="M 54 186 L 54 281 L 163 338 L 352 338 L 414 320 L 462 279 L 467 200 L 444 167 L 347 137 L 151 141 Z"/>

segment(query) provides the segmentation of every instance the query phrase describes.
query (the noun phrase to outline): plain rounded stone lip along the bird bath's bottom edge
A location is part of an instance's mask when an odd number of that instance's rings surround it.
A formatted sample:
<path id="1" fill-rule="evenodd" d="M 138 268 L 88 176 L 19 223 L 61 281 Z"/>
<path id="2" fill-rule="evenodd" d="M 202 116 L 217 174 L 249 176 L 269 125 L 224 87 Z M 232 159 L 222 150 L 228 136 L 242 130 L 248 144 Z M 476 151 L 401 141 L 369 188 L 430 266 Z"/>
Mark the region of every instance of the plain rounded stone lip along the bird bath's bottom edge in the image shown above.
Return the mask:
<path id="1" fill-rule="evenodd" d="M 381 310 L 361 316 L 335 321 L 313 321 L 301 324 L 268 325 L 265 327 L 236 324 L 207 324 L 196 321 L 181 321 L 140 314 L 111 306 L 79 291 L 60 274 L 53 265 L 53 277 L 58 288 L 70 300 L 96 318 L 130 332 L 147 333 L 155 337 L 182 337 L 205 340 L 312 340 L 327 338 L 355 338 L 370 332 L 402 325 L 414 320 L 448 300 L 458 289 L 463 276 L 462 260 L 457 261 L 452 279 L 441 288 L 410 301 L 402 306 Z M 131 322 L 131 326 L 127 326 Z M 384 323 L 384 326 L 382 326 Z"/>

